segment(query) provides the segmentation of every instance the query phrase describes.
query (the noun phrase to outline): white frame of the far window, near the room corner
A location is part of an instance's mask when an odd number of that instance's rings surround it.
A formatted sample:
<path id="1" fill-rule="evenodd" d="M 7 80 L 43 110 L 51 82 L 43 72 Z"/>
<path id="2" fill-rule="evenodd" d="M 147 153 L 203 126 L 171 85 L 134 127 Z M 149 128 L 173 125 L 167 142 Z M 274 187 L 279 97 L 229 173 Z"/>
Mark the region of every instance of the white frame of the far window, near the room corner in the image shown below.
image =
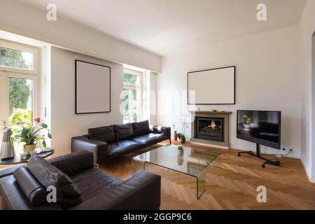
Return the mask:
<path id="1" fill-rule="evenodd" d="M 123 74 L 124 73 L 130 73 L 130 74 L 133 74 L 133 75 L 137 75 L 139 76 L 139 82 L 136 83 L 136 84 L 133 84 L 133 83 L 123 83 L 123 90 L 127 89 L 129 90 L 129 104 L 132 105 L 132 99 L 134 98 L 134 94 L 132 92 L 132 90 L 137 90 L 139 91 L 139 97 L 138 97 L 138 104 L 137 104 L 137 109 L 138 109 L 138 120 L 137 122 L 139 122 L 141 120 L 141 114 L 142 114 L 142 76 L 143 76 L 143 73 L 141 71 L 136 71 L 136 70 L 133 70 L 133 69 L 123 69 Z M 132 96 L 132 97 L 130 97 Z M 131 122 L 134 122 L 132 121 L 133 119 L 132 118 L 132 109 L 133 107 L 132 106 L 129 106 L 129 121 L 128 123 L 131 123 Z M 124 121 L 125 122 L 125 121 Z"/>

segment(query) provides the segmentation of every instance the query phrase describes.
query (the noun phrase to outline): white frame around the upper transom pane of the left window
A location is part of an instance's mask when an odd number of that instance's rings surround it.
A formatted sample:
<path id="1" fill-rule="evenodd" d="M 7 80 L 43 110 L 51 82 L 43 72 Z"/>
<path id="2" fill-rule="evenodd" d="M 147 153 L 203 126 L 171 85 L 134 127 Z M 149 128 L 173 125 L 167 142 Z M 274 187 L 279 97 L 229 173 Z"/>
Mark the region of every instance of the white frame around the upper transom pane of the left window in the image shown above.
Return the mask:
<path id="1" fill-rule="evenodd" d="M 33 69 L 32 70 L 0 65 L 1 71 L 9 71 L 9 72 L 15 72 L 15 73 L 31 73 L 31 74 L 38 73 L 38 70 L 39 70 L 38 69 L 38 55 L 39 55 L 38 49 L 31 47 L 29 45 L 15 43 L 11 41 L 5 41 L 3 39 L 0 39 L 0 47 L 8 48 L 10 50 L 19 50 L 22 52 L 29 52 L 33 55 Z"/>

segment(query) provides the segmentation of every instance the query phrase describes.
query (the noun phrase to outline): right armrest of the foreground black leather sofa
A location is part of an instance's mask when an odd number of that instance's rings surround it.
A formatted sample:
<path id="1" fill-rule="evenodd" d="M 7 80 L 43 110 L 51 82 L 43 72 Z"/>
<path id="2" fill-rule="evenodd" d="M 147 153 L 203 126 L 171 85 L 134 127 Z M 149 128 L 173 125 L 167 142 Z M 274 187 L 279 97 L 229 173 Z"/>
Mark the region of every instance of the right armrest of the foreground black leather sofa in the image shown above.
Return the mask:
<path id="1" fill-rule="evenodd" d="M 161 176 L 141 172 L 71 209 L 153 210 L 160 209 L 160 203 Z"/>

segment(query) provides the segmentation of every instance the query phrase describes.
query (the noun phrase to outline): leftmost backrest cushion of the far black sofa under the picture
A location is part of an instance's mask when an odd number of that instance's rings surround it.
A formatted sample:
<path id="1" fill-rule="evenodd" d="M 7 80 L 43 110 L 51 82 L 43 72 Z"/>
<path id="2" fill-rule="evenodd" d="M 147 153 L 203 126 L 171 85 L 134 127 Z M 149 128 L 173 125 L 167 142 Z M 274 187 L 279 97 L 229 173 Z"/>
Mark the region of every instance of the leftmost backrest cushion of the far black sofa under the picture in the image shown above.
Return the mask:
<path id="1" fill-rule="evenodd" d="M 106 126 L 106 127 L 90 128 L 88 130 L 88 136 L 91 139 L 98 140 L 98 141 L 106 141 L 108 143 L 116 141 L 113 125 Z"/>

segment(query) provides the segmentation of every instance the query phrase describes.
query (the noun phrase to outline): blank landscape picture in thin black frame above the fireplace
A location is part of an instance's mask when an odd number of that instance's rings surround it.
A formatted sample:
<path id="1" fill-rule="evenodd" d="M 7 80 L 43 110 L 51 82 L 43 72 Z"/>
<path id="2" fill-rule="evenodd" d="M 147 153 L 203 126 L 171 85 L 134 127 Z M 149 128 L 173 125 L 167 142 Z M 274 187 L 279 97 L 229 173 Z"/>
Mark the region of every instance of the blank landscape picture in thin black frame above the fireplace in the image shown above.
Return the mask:
<path id="1" fill-rule="evenodd" d="M 188 72 L 188 104 L 235 104 L 235 69 Z"/>

